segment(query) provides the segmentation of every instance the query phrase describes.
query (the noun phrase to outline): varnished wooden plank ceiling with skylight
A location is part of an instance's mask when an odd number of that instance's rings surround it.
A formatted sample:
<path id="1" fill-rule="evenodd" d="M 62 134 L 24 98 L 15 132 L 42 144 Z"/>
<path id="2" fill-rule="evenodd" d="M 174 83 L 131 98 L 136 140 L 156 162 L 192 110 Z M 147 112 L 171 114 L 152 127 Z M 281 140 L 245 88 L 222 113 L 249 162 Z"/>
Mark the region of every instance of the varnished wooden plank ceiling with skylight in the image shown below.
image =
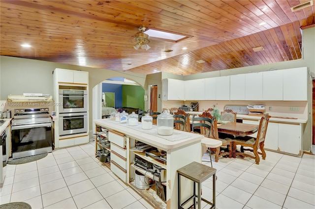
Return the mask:
<path id="1" fill-rule="evenodd" d="M 1 0 L 0 55 L 177 75 L 294 60 L 301 58 L 300 28 L 315 22 L 315 5 L 291 11 L 304 2 Z M 260 26 L 262 22 L 266 24 Z M 189 38 L 170 42 L 151 37 L 151 49 L 135 50 L 139 26 Z M 24 43 L 32 47 L 24 49 Z M 260 46 L 264 51 L 252 50 Z"/>

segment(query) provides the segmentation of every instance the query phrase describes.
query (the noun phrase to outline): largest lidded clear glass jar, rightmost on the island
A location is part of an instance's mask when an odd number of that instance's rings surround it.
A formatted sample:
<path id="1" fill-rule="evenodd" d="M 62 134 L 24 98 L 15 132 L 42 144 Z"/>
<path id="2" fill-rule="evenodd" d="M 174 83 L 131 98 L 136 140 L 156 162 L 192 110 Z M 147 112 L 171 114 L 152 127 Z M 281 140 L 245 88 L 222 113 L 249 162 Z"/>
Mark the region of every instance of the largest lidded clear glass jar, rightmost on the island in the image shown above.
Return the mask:
<path id="1" fill-rule="evenodd" d="M 172 135 L 174 131 L 173 115 L 164 110 L 158 115 L 158 134 L 163 136 Z"/>

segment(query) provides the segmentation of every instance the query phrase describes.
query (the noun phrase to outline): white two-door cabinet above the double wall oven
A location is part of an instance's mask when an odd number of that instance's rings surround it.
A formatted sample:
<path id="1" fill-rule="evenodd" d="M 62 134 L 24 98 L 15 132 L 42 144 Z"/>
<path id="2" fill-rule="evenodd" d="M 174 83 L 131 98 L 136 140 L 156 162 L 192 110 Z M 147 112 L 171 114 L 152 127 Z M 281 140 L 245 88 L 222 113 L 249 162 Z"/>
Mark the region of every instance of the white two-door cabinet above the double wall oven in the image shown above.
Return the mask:
<path id="1" fill-rule="evenodd" d="M 62 83 L 88 84 L 89 72 L 56 68 L 57 81 Z"/>

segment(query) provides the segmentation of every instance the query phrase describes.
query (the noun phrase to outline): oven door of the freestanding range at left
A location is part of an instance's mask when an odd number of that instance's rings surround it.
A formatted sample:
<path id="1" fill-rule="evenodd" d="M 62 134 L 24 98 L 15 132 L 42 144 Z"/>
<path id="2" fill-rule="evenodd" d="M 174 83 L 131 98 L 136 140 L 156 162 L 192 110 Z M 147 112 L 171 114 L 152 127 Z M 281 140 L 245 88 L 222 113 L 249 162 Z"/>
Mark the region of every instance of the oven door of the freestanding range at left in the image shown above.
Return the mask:
<path id="1" fill-rule="evenodd" d="M 12 158 L 52 152 L 52 123 L 12 126 Z"/>

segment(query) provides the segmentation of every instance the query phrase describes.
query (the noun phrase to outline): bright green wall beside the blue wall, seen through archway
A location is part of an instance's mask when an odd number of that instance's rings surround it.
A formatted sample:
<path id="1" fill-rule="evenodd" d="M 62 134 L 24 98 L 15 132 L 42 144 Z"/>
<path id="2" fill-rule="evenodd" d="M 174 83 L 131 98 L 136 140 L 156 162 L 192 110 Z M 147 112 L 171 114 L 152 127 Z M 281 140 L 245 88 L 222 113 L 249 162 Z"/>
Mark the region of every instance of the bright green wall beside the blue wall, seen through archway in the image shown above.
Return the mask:
<path id="1" fill-rule="evenodd" d="M 144 110 L 144 89 L 141 86 L 123 85 L 123 106 Z"/>

